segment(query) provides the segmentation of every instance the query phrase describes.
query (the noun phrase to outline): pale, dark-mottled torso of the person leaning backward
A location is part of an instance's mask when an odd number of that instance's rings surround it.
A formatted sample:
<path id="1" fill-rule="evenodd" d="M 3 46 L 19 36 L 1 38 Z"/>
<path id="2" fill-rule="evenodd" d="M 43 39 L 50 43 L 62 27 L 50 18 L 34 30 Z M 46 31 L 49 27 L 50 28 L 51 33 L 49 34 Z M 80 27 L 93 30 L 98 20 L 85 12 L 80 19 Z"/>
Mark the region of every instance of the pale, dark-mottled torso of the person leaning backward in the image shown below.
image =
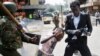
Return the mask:
<path id="1" fill-rule="evenodd" d="M 55 37 L 51 38 L 48 40 L 46 43 L 42 45 L 41 51 L 46 55 L 46 56 L 52 56 L 52 52 L 54 50 L 54 47 L 56 46 L 57 40 Z"/>

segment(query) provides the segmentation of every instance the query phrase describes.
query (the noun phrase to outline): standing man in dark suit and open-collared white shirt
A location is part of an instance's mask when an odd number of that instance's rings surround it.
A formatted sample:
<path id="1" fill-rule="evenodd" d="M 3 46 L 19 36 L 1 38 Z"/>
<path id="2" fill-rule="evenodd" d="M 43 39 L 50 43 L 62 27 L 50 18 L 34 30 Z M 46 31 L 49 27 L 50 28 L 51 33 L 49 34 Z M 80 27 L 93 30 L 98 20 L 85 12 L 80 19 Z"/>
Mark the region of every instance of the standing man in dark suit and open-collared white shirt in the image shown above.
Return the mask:
<path id="1" fill-rule="evenodd" d="M 67 21 L 65 22 L 65 32 L 68 34 L 65 42 L 68 45 L 64 56 L 72 56 L 76 50 L 80 51 L 82 56 L 91 56 L 87 46 L 87 35 L 90 36 L 92 32 L 90 16 L 80 13 L 80 3 L 77 1 L 72 2 L 70 8 L 73 14 L 67 16 Z"/>

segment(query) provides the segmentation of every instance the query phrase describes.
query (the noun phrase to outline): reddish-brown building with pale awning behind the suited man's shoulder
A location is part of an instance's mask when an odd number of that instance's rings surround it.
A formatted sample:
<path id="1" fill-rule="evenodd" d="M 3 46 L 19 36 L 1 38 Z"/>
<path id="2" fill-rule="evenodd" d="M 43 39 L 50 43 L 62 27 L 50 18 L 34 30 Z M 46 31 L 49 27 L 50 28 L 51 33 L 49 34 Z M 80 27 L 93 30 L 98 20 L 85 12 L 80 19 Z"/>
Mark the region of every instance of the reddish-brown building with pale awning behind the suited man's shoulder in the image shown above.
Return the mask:
<path id="1" fill-rule="evenodd" d="M 100 0 L 88 0 L 86 4 L 81 5 L 81 8 L 85 8 L 89 13 L 95 13 L 100 11 Z"/>

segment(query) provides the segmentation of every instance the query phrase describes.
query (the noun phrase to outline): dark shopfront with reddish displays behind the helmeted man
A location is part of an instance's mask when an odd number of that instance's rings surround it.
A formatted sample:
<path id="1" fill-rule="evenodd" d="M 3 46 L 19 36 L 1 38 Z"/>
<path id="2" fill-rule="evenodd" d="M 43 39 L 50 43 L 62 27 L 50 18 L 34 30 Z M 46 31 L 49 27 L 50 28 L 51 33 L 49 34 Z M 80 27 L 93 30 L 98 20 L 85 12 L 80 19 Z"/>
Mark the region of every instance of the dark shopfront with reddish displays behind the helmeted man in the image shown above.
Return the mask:
<path id="1" fill-rule="evenodd" d="M 15 15 L 17 16 L 26 16 L 26 17 L 31 17 L 29 14 L 33 14 L 34 12 L 38 11 L 41 9 L 45 3 L 45 0 L 2 0 L 2 2 L 15 2 L 17 6 L 17 12 Z"/>

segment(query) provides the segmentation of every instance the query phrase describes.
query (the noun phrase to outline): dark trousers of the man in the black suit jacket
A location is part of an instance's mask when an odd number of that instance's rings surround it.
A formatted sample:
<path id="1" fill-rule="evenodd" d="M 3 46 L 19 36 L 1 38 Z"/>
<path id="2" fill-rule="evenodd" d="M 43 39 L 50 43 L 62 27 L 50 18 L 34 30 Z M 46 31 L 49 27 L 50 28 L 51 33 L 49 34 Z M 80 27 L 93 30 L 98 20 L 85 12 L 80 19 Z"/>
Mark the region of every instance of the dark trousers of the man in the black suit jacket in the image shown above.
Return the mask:
<path id="1" fill-rule="evenodd" d="M 76 50 L 80 51 L 82 56 L 91 56 L 90 50 L 87 45 L 67 45 L 64 56 L 72 56 Z"/>

